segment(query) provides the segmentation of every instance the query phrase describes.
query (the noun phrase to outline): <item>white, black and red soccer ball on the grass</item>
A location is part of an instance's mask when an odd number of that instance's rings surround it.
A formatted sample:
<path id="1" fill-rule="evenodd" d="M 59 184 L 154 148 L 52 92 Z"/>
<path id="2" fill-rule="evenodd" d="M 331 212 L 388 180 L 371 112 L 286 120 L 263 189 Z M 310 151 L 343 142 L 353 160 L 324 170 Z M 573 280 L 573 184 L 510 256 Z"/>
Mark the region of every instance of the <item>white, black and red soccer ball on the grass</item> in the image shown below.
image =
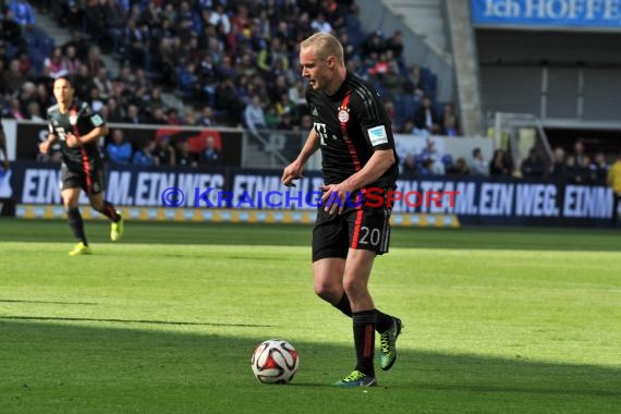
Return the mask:
<path id="1" fill-rule="evenodd" d="M 251 366 L 263 383 L 287 383 L 297 370 L 297 351 L 287 341 L 270 339 L 261 342 L 253 352 Z"/>

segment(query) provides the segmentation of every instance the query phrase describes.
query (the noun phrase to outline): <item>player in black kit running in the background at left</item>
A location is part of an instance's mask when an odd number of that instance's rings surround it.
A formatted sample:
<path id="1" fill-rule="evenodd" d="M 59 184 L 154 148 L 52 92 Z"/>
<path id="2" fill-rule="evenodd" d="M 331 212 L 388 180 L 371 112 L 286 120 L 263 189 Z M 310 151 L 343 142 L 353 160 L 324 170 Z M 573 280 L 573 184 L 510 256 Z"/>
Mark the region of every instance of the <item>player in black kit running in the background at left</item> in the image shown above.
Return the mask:
<path id="1" fill-rule="evenodd" d="M 65 77 L 53 83 L 57 105 L 48 109 L 49 134 L 39 144 L 39 150 L 47 154 L 50 146 L 60 141 L 62 151 L 61 197 L 69 226 L 78 243 L 69 252 L 71 256 L 90 254 L 84 233 L 84 222 L 77 200 L 81 190 L 88 195 L 94 209 L 112 221 L 110 239 L 115 242 L 123 235 L 123 219 L 111 203 L 104 199 L 104 166 L 98 139 L 108 133 L 106 122 L 93 112 L 88 104 L 74 98 L 74 89 Z"/>

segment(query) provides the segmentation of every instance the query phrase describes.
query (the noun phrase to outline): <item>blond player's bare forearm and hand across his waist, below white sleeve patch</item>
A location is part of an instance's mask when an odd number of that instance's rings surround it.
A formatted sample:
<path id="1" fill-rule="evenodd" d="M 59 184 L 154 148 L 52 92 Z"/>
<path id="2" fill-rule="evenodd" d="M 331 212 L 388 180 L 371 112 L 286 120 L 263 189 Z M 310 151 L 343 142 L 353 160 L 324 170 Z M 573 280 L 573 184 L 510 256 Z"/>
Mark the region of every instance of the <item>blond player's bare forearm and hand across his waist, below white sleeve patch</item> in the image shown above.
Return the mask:
<path id="1" fill-rule="evenodd" d="M 339 184 L 324 185 L 321 191 L 324 191 L 324 196 L 321 197 L 321 204 L 326 204 L 331 197 L 338 197 L 341 203 L 331 203 L 326 206 L 326 211 L 333 214 L 342 214 L 348 194 L 364 187 L 366 184 L 373 183 L 379 179 L 386 170 L 388 170 L 394 163 L 394 153 L 392 149 L 381 149 L 373 154 L 368 159 L 367 163 L 355 174 L 351 175 L 349 179 Z M 333 194 L 337 194 L 336 196 Z"/>

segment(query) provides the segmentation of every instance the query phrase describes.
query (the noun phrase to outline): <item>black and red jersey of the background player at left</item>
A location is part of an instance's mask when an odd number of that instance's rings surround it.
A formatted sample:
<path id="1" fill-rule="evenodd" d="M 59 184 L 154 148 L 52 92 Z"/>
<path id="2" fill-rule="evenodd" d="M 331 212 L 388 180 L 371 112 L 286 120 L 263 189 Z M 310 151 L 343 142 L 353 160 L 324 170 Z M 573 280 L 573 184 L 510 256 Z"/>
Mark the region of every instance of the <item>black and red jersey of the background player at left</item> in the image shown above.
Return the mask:
<path id="1" fill-rule="evenodd" d="M 97 141 L 70 148 L 66 145 L 65 135 L 73 133 L 76 136 L 83 136 L 105 124 L 106 121 L 94 112 L 88 104 L 75 99 L 65 113 L 60 112 L 58 105 L 48 109 L 48 130 L 50 134 L 59 138 L 62 161 L 70 170 L 82 171 L 88 165 L 98 165 L 101 161 L 101 155 Z"/>

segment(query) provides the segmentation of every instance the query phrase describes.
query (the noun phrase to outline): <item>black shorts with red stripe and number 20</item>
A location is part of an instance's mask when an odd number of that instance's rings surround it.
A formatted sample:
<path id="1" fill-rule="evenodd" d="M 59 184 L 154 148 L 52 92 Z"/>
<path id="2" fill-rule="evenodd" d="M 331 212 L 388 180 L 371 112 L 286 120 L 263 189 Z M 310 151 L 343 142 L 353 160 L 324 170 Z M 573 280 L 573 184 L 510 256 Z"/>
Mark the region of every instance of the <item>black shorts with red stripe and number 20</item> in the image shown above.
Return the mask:
<path id="1" fill-rule="evenodd" d="M 387 204 L 369 207 L 366 197 L 345 206 L 342 215 L 329 215 L 324 206 L 317 208 L 313 229 L 313 261 L 328 257 L 346 258 L 350 248 L 388 253 L 390 214 Z M 360 206 L 354 206 L 360 204 Z"/>

